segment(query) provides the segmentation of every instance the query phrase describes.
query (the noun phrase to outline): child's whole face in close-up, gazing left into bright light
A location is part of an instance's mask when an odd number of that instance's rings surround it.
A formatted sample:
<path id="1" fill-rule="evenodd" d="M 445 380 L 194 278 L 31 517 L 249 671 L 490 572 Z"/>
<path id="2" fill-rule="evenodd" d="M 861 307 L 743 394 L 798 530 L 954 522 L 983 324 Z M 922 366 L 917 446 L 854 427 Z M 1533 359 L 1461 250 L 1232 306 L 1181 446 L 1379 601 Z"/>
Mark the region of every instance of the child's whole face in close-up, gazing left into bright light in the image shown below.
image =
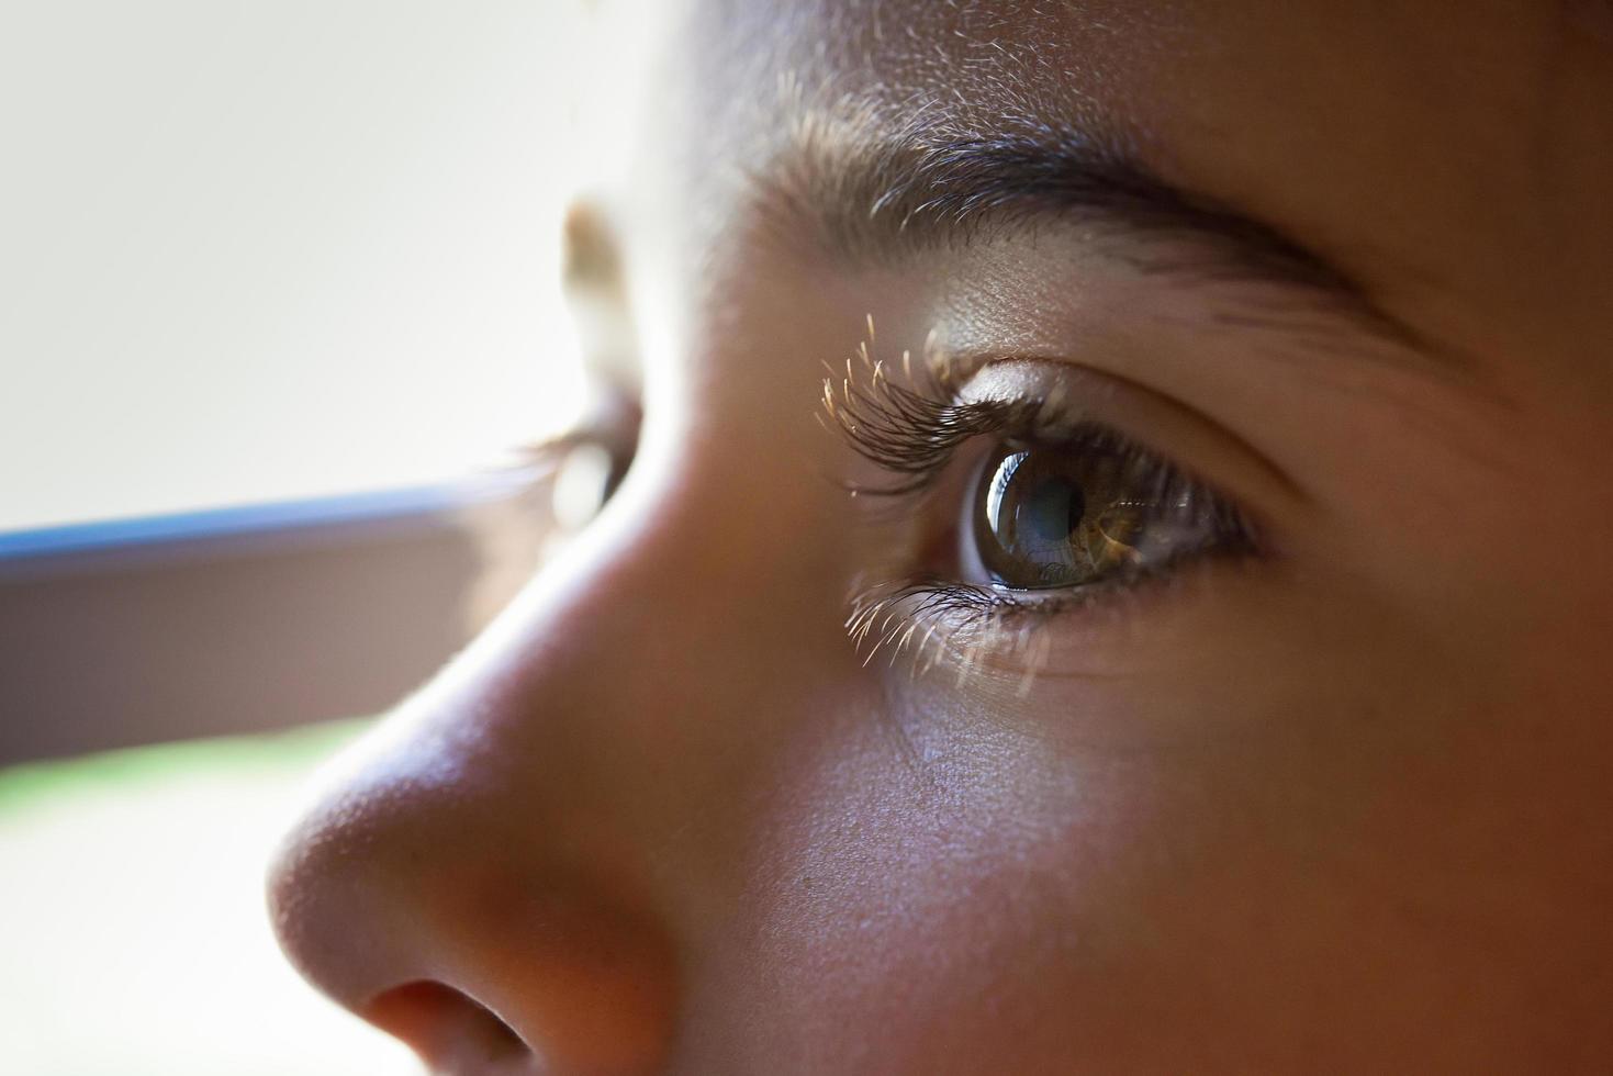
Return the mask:
<path id="1" fill-rule="evenodd" d="M 1613 1066 L 1613 13 L 690 6 L 631 471 L 298 965 L 445 1073 Z"/>

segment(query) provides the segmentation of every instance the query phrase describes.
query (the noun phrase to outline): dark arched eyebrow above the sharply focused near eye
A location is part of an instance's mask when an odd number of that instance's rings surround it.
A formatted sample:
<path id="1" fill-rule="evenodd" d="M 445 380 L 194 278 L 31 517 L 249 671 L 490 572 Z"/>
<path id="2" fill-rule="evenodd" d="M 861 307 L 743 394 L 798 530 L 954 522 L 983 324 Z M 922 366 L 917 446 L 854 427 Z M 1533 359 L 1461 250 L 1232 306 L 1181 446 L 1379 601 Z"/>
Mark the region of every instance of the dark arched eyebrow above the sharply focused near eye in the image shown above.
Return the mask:
<path id="1" fill-rule="evenodd" d="M 1276 286 L 1290 300 L 1310 300 L 1300 303 L 1307 310 L 1319 302 L 1397 344 L 1416 344 L 1345 269 L 1273 224 L 1168 182 L 1116 145 L 1040 123 L 1029 132 L 950 137 L 927 136 L 924 124 L 890 134 L 879 126 L 803 115 L 784 152 L 752 177 L 771 215 L 797 224 L 794 234 L 805 223 L 836 260 L 887 263 L 982 232 L 1087 224 L 1119 239 L 1119 256 L 1142 273 Z"/>

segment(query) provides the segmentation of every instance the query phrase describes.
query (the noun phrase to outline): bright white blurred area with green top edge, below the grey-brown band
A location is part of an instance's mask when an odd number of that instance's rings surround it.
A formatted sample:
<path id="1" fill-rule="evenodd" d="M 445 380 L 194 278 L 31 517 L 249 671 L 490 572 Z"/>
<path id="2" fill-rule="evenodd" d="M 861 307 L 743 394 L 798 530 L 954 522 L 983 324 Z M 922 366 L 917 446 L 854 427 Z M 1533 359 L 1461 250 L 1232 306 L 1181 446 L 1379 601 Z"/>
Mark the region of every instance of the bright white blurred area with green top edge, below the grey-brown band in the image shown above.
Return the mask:
<path id="1" fill-rule="evenodd" d="M 0 1071 L 418 1073 L 292 971 L 263 903 L 310 776 L 368 724 L 0 769 Z"/>

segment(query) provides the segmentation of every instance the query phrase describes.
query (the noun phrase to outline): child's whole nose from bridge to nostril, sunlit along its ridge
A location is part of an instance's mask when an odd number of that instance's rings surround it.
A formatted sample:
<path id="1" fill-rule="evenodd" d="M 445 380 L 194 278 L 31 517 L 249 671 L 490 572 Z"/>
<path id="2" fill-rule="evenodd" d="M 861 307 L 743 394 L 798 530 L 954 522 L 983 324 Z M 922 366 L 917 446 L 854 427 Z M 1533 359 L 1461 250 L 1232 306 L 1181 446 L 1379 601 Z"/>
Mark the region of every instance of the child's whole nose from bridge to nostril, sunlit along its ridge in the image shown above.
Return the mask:
<path id="1" fill-rule="evenodd" d="M 760 626 L 700 581 L 777 545 L 623 516 L 339 760 L 271 871 L 292 961 L 432 1071 L 658 1071 L 723 916 L 756 724 L 724 715 L 779 669 L 726 668 Z"/>

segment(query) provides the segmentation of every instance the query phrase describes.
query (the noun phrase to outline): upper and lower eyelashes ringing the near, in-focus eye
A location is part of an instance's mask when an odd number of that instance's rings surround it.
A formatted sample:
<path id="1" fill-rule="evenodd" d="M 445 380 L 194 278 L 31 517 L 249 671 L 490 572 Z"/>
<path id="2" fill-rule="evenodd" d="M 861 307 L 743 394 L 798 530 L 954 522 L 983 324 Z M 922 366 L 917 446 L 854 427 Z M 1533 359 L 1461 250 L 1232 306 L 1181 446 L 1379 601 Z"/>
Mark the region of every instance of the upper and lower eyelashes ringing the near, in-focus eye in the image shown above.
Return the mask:
<path id="1" fill-rule="evenodd" d="M 848 484 L 853 497 L 884 498 L 907 508 L 937 486 L 968 442 L 995 437 L 1003 444 L 1074 455 L 1110 453 L 1127 473 L 1147 482 L 1157 497 L 1177 490 L 1205 497 L 1218 545 L 1032 598 L 1021 597 L 1024 592 L 948 579 L 931 571 L 908 571 L 860 586 L 852 595 L 845 626 L 858 649 L 868 647 L 865 665 L 884 650 L 890 650 L 892 663 L 908 650 L 916 650 L 921 658 L 926 653 L 939 657 L 945 647 L 934 649 L 932 644 L 960 637 L 969 644 L 966 661 L 973 661 L 984 647 L 1007 645 L 1036 653 L 1034 629 L 1048 616 L 1094 610 L 1134 592 L 1139 584 L 1166 581 L 1184 560 L 1258 552 L 1253 524 L 1229 500 L 1118 431 L 1094 421 L 1071 421 L 1060 413 L 1060 400 L 1032 397 L 960 403 L 950 384 L 897 384 L 881 363 L 868 363 L 868 369 L 866 384 L 858 382 L 850 365 L 839 379 L 839 390 L 834 379 L 824 381 L 821 418 L 857 455 L 890 476 L 890 481 L 873 486 Z"/>

